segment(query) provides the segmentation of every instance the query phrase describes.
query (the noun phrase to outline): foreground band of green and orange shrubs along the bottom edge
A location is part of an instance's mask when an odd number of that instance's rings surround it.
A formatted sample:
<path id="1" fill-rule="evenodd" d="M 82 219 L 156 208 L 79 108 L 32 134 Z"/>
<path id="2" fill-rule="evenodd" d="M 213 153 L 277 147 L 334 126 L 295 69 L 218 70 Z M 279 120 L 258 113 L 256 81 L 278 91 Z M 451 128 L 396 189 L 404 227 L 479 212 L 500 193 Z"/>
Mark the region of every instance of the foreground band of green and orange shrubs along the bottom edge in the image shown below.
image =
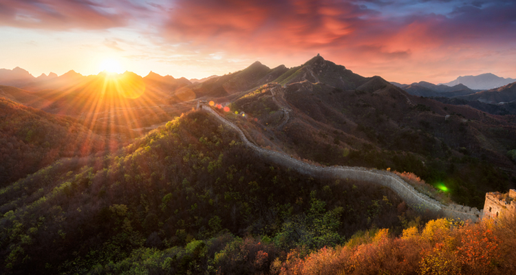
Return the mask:
<path id="1" fill-rule="evenodd" d="M 142 248 L 92 274 L 507 274 L 516 267 L 515 219 L 464 224 L 436 219 L 394 236 L 357 232 L 343 245 L 279 250 L 270 239 L 228 234 L 166 250 Z"/>

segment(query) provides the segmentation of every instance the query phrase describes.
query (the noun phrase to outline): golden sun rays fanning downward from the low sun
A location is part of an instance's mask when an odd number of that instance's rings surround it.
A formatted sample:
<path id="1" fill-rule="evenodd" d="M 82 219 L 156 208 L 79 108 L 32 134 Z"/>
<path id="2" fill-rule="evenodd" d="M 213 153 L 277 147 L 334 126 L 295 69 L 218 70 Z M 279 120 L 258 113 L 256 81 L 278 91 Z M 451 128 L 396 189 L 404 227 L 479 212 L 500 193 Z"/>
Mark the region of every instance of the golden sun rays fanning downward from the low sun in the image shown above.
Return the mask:
<path id="1" fill-rule="evenodd" d="M 76 140 L 78 155 L 88 155 L 94 153 L 90 141 L 97 134 L 105 135 L 105 146 L 114 151 L 144 133 L 145 127 L 171 120 L 173 115 L 163 107 L 164 95 L 136 74 L 103 72 L 48 91 L 46 98 L 58 113 L 73 114 L 90 130 L 86 140 Z"/>

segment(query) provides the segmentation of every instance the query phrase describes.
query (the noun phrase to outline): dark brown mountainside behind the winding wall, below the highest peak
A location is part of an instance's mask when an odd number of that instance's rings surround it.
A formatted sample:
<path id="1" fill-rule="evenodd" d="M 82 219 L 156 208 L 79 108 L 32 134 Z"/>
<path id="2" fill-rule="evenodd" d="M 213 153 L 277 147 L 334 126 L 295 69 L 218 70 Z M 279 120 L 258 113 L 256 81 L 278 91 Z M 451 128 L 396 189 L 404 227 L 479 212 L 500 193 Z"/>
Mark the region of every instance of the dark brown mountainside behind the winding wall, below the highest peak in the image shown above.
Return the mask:
<path id="1" fill-rule="evenodd" d="M 314 67 L 298 72 L 334 72 L 332 63 L 316 58 Z M 411 96 L 376 76 L 354 76 L 348 90 L 321 82 L 319 74 L 318 83 L 306 76 L 285 87 L 261 87 L 230 105 L 257 119 L 248 120 L 257 144 L 321 164 L 409 171 L 444 183 L 454 201 L 477 208 L 486 191 L 516 184 L 515 163 L 506 157 L 516 146 L 512 118 Z"/>

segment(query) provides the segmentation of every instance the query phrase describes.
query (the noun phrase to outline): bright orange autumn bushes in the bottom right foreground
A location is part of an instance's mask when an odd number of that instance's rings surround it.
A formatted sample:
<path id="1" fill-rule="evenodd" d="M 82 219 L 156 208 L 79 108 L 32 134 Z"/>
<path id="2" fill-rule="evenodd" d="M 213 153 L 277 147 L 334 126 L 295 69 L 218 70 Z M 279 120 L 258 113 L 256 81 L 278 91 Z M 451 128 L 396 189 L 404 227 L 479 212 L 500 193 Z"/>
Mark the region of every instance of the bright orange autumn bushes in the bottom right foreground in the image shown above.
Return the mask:
<path id="1" fill-rule="evenodd" d="M 516 222 L 513 222 L 516 223 Z M 391 237 L 380 230 L 372 243 L 323 248 L 303 257 L 288 254 L 279 274 L 508 274 L 515 241 L 500 241 L 506 228 L 486 221 L 453 225 L 431 221 L 418 232 Z M 513 232 L 513 231 L 511 231 Z M 514 238 L 514 236 L 512 236 Z M 274 270 L 271 270 L 274 272 Z"/>

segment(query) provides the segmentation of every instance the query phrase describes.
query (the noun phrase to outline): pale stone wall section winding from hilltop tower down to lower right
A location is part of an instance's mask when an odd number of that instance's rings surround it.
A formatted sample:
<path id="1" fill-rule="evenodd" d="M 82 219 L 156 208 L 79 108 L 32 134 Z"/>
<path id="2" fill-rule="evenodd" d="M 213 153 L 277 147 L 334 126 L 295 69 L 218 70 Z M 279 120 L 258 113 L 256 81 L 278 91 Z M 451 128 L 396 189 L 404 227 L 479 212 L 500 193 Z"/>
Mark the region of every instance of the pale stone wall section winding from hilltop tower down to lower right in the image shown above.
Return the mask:
<path id="1" fill-rule="evenodd" d="M 215 115 L 215 117 L 228 126 L 230 129 L 237 131 L 241 140 L 253 151 L 258 153 L 260 157 L 268 159 L 270 162 L 292 168 L 303 175 L 310 175 L 318 178 L 334 178 L 334 179 L 352 179 L 356 181 L 367 181 L 380 186 L 390 188 L 398 194 L 411 208 L 419 212 L 432 212 L 450 219 L 461 219 L 463 221 L 471 220 L 477 221 L 482 217 L 482 210 L 477 208 L 470 208 L 469 206 L 461 206 L 458 204 L 451 204 L 446 206 L 435 199 L 424 195 L 416 188 L 413 188 L 405 180 L 398 175 L 385 170 L 376 170 L 363 167 L 352 166 L 316 166 L 302 162 L 299 159 L 294 159 L 285 153 L 268 150 L 253 144 L 248 140 L 241 129 L 232 122 L 223 118 L 217 111 L 209 107 L 207 104 L 197 102 L 197 109 L 208 111 Z"/>

